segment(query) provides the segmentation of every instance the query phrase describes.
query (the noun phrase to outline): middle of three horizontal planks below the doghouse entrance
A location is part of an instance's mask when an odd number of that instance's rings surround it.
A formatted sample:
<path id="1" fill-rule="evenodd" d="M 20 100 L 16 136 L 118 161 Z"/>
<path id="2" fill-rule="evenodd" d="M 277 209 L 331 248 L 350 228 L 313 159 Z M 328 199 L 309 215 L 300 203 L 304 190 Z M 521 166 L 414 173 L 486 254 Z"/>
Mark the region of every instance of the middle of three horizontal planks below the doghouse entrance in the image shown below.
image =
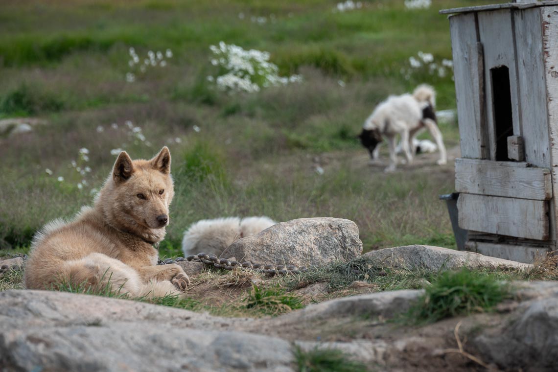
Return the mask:
<path id="1" fill-rule="evenodd" d="M 548 203 L 542 200 L 460 194 L 459 227 L 517 238 L 548 240 Z"/>

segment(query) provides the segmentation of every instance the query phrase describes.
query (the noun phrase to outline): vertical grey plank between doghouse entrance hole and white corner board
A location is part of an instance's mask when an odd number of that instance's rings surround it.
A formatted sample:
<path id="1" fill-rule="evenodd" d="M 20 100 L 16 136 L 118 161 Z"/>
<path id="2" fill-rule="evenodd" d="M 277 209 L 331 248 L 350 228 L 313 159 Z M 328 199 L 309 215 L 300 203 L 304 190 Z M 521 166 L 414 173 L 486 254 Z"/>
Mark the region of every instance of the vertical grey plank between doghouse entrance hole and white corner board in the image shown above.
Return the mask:
<path id="1" fill-rule="evenodd" d="M 542 51 L 541 9 L 513 13 L 519 84 L 519 122 L 525 161 L 550 167 L 549 120 L 546 112 L 546 79 Z"/>

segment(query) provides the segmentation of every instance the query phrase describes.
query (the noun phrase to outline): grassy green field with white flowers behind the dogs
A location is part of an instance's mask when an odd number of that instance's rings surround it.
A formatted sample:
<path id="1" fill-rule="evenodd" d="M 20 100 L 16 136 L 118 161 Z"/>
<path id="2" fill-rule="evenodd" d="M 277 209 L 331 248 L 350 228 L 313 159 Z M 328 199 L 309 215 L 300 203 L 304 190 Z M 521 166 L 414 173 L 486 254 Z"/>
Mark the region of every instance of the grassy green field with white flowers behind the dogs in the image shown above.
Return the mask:
<path id="1" fill-rule="evenodd" d="M 351 219 L 365 250 L 455 247 L 438 200 L 453 191 L 453 163 L 432 157 L 385 175 L 367 165 L 355 136 L 375 104 L 419 83 L 435 86 L 438 109 L 455 108 L 451 70 L 411 69 L 409 57 L 450 60 L 448 20 L 437 11 L 483 3 L 411 10 L 363 1 L 337 12 L 335 1 L 317 0 L 3 2 L 0 118 L 46 123 L 0 137 L 0 249 L 25 252 L 41 225 L 90 204 L 112 149 L 151 157 L 165 144 L 176 196 L 163 257 L 180 254 L 190 223 L 230 215 Z M 220 41 L 268 51 L 280 75 L 304 81 L 219 91 L 206 76 L 218 72 L 209 46 Z M 142 60 L 150 50 L 172 57 L 128 83 L 129 47 Z M 446 146 L 458 146 L 456 123 L 441 129 Z"/>

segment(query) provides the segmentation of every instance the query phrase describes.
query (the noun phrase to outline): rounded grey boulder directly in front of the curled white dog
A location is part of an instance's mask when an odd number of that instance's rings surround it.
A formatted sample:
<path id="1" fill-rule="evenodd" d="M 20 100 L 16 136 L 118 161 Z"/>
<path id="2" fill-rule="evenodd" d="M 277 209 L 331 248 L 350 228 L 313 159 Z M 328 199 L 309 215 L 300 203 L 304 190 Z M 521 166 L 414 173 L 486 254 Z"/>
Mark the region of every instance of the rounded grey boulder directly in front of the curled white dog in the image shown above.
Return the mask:
<path id="1" fill-rule="evenodd" d="M 238 239 L 221 257 L 264 264 L 323 265 L 357 258 L 362 253 L 358 227 L 338 218 L 303 218 L 278 223 Z"/>

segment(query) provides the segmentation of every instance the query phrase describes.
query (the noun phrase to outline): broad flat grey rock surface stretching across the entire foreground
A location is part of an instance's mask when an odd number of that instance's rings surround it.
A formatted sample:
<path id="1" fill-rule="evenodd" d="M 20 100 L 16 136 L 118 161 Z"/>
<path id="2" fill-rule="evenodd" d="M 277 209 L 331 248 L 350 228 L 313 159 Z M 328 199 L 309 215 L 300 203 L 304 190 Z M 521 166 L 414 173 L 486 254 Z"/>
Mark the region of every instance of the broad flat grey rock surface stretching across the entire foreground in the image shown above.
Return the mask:
<path id="1" fill-rule="evenodd" d="M 514 283 L 497 312 L 424 327 L 386 322 L 422 291 L 333 299 L 276 318 L 224 318 L 124 299 L 51 291 L 0 292 L 6 371 L 294 371 L 294 345 L 339 349 L 382 371 L 552 371 L 558 360 L 558 283 Z M 525 301 L 523 299 L 525 299 Z M 376 368 L 375 367 L 375 368 Z"/>

